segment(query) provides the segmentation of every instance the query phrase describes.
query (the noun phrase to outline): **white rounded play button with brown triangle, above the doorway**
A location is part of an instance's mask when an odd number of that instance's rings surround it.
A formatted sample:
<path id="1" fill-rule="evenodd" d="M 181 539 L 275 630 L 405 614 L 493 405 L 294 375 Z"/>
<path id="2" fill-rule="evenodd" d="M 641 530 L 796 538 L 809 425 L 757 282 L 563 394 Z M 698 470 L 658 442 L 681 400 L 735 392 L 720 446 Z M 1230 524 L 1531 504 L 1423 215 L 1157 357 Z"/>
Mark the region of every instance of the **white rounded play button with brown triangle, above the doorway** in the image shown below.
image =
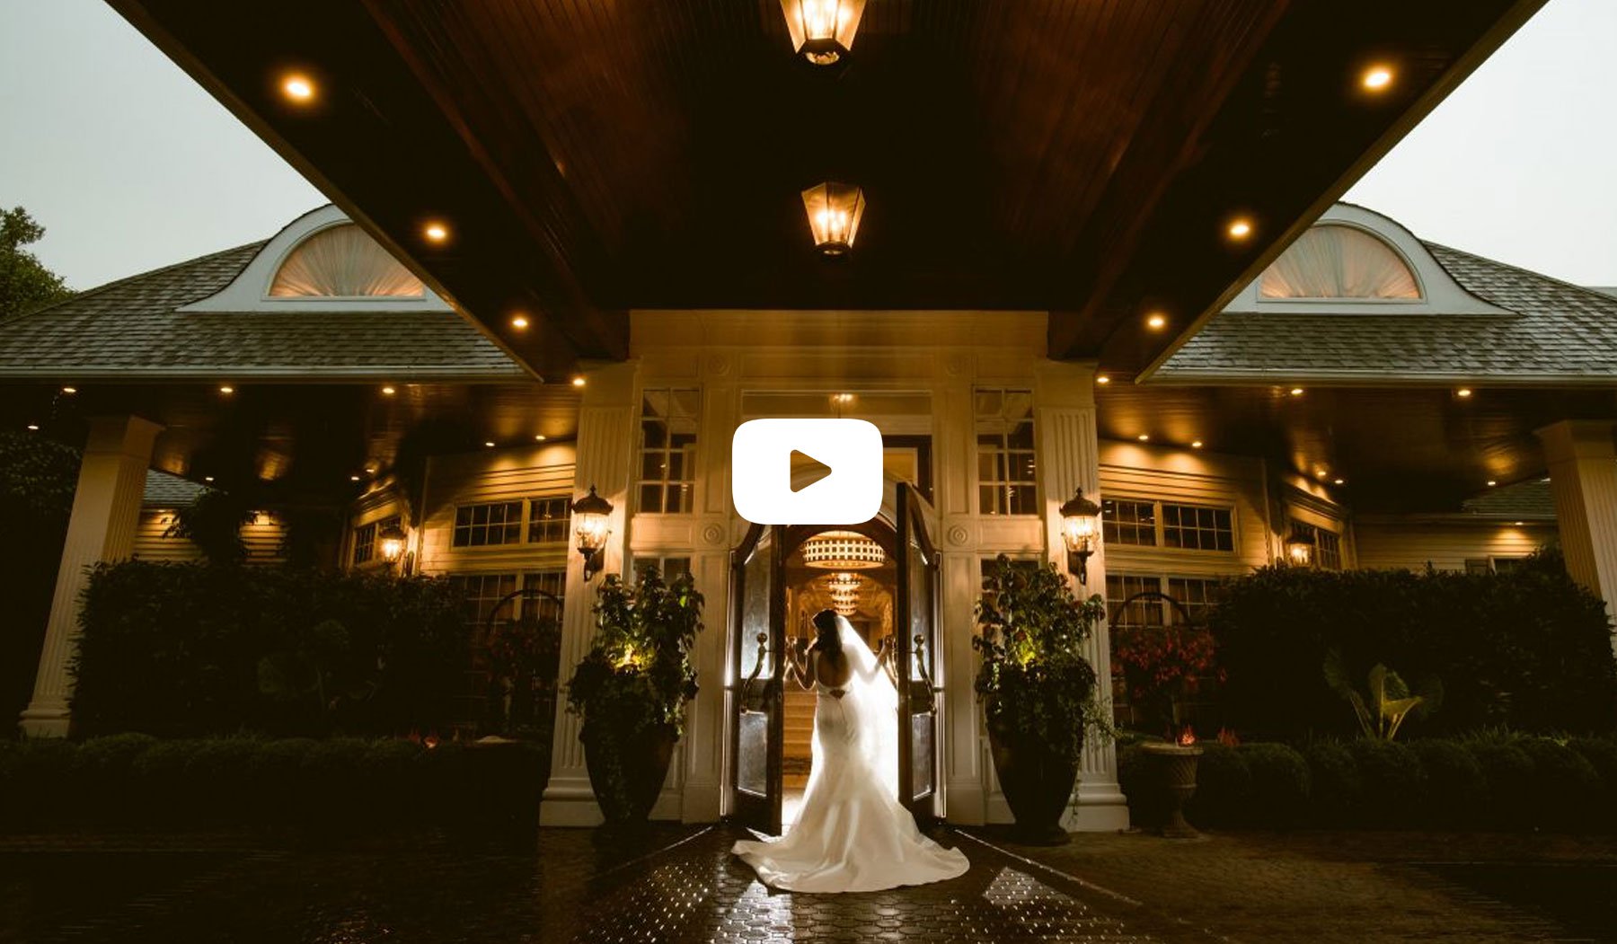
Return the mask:
<path id="1" fill-rule="evenodd" d="M 881 511 L 881 430 L 865 420 L 770 419 L 736 427 L 736 512 L 754 524 L 860 524 Z"/>

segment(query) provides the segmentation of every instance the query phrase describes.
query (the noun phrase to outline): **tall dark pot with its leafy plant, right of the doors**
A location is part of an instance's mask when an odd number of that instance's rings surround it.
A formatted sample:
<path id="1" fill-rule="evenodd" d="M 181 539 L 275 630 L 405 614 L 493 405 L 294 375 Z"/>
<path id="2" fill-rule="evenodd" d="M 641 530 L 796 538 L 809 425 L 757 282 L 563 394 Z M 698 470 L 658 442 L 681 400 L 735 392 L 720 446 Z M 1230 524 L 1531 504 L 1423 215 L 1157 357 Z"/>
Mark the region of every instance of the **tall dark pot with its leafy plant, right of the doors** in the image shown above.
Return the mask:
<path id="1" fill-rule="evenodd" d="M 1054 564 L 1030 567 L 1004 554 L 983 577 L 977 601 L 983 700 L 999 789 L 1024 842 L 1062 844 L 1083 731 L 1111 726 L 1095 698 L 1095 668 L 1082 645 L 1106 614 L 1100 596 L 1074 598 Z"/>

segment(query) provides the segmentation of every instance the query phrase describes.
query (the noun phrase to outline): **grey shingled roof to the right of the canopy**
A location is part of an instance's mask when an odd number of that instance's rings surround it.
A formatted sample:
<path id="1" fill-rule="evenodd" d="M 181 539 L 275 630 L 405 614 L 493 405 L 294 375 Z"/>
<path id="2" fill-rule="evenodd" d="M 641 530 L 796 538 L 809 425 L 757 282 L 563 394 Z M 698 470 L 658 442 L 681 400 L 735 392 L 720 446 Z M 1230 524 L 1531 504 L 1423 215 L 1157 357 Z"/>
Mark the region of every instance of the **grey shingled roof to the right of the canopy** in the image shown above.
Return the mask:
<path id="1" fill-rule="evenodd" d="M 1153 380 L 1617 381 L 1617 297 L 1423 246 L 1460 286 L 1507 312 L 1221 312 Z"/>

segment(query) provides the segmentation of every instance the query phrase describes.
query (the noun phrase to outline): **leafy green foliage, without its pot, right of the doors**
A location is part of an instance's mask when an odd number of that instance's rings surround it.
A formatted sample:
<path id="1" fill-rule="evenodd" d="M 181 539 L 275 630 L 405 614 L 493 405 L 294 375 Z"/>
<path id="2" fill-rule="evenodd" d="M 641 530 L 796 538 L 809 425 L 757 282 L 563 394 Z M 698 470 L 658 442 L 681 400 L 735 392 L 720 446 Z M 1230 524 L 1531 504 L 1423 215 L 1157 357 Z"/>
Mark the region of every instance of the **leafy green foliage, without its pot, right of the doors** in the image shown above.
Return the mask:
<path id="1" fill-rule="evenodd" d="M 999 554 L 983 577 L 972 637 L 982 658 L 977 693 L 999 735 L 1074 761 L 1085 727 L 1112 734 L 1095 668 L 1082 651 L 1104 616 L 1101 596 L 1080 603 L 1054 564 L 1027 567 Z"/>

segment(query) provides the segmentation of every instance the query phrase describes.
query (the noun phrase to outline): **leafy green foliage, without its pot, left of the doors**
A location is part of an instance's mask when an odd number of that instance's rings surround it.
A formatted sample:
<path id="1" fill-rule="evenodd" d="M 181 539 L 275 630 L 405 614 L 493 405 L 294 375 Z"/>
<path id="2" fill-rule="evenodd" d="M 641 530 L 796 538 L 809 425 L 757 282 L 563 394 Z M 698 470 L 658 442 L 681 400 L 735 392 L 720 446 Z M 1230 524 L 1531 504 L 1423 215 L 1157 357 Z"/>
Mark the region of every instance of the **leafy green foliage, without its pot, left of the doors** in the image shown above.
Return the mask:
<path id="1" fill-rule="evenodd" d="M 568 682 L 568 708 L 585 731 L 598 726 L 627 739 L 666 726 L 684 734 L 686 702 L 697 695 L 690 650 L 702 605 L 690 574 L 665 582 L 645 567 L 632 587 L 616 574 L 602 582 L 595 640 Z"/>

